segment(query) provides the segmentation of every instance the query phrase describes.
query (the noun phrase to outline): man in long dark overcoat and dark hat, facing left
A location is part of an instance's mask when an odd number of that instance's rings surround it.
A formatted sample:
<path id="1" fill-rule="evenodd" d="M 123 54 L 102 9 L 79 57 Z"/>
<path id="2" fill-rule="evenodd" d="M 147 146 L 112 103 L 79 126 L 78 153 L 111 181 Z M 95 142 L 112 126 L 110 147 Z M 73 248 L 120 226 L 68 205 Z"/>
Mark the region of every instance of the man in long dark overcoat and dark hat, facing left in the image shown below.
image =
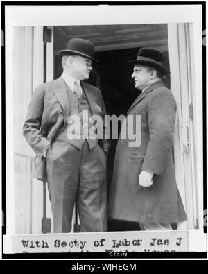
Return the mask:
<path id="1" fill-rule="evenodd" d="M 141 144 L 131 147 L 132 140 L 119 138 L 110 187 L 110 217 L 139 222 L 141 230 L 171 230 L 171 223 L 187 219 L 175 182 L 176 103 L 163 83 L 169 73 L 165 59 L 162 51 L 141 48 L 137 59 L 129 61 L 141 94 L 128 115 L 141 116 Z"/>

